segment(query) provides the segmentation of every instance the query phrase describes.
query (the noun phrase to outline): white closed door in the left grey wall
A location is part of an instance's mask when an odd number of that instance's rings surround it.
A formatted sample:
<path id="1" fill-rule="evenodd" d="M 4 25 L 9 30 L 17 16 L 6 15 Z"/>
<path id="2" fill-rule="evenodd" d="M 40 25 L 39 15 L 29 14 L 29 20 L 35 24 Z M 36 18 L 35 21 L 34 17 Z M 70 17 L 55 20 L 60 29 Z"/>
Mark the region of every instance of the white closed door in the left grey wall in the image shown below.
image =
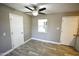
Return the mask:
<path id="1" fill-rule="evenodd" d="M 24 42 L 23 16 L 10 14 L 10 29 L 12 47 L 18 47 Z"/>

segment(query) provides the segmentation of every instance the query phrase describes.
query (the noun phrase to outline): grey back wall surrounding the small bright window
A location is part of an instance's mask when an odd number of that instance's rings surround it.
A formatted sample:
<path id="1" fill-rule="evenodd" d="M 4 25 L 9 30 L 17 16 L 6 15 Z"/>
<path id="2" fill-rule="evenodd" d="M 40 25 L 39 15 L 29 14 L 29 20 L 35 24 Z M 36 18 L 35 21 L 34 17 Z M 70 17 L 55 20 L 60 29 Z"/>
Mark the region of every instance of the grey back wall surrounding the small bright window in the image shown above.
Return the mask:
<path id="1" fill-rule="evenodd" d="M 79 16 L 79 12 L 55 13 L 46 16 L 32 17 L 32 37 L 48 41 L 60 42 L 61 24 L 63 16 Z M 48 33 L 39 33 L 37 21 L 41 18 L 48 19 Z M 57 28 L 60 28 L 57 30 Z"/>

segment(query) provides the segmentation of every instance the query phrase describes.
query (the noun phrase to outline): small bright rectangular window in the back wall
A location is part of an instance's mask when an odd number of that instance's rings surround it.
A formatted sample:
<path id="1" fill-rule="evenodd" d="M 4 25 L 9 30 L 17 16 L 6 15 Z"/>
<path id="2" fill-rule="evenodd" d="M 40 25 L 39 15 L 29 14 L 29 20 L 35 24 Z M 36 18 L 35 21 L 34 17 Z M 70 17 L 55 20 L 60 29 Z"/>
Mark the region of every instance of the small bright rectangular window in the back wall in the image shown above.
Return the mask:
<path id="1" fill-rule="evenodd" d="M 38 32 L 47 32 L 47 19 L 38 20 Z"/>

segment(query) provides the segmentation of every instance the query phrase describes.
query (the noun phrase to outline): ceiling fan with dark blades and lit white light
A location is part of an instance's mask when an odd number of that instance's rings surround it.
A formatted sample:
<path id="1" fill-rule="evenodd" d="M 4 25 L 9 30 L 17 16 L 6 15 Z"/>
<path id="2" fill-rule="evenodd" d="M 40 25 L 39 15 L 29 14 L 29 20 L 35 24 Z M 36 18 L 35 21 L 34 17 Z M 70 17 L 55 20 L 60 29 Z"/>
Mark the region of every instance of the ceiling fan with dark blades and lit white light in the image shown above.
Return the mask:
<path id="1" fill-rule="evenodd" d="M 25 6 L 25 8 L 29 9 L 31 12 L 26 12 L 26 13 L 32 13 L 33 16 L 37 16 L 38 14 L 45 15 L 42 11 L 46 10 L 45 7 L 39 8 L 36 5 L 32 5 L 32 8 Z"/>

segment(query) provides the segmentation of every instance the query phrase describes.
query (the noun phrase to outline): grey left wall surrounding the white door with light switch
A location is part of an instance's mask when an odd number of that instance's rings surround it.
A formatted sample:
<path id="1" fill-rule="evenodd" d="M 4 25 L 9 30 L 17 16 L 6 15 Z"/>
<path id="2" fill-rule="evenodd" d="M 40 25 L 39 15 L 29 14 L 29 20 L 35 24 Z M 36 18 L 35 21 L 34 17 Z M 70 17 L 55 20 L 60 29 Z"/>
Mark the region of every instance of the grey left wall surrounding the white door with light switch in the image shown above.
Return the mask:
<path id="1" fill-rule="evenodd" d="M 24 39 L 26 41 L 28 38 L 31 37 L 31 16 L 9 8 L 3 4 L 0 4 L 0 52 L 5 52 L 12 48 L 9 13 L 14 13 L 23 16 Z M 6 36 L 3 36 L 4 32 L 6 33 Z"/>

